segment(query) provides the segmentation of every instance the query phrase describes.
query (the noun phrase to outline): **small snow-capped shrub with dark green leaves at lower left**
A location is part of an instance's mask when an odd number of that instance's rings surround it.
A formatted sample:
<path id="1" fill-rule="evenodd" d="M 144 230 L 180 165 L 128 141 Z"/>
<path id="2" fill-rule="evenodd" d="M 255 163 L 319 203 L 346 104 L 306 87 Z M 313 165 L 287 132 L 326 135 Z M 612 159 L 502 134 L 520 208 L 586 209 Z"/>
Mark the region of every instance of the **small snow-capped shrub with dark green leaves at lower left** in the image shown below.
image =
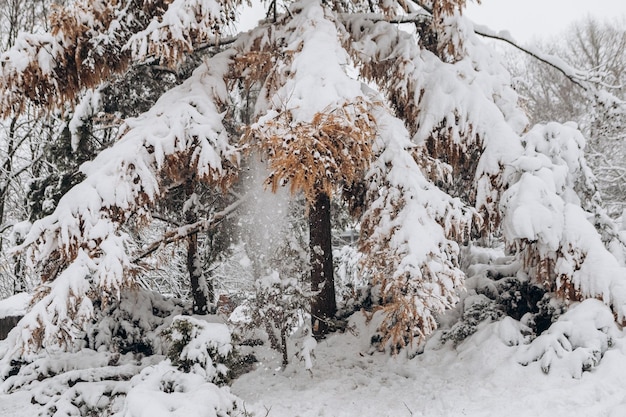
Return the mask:
<path id="1" fill-rule="evenodd" d="M 167 357 L 182 372 L 191 372 L 212 383 L 224 383 L 232 359 L 230 331 L 221 323 L 177 316 L 164 332 L 171 345 Z"/>

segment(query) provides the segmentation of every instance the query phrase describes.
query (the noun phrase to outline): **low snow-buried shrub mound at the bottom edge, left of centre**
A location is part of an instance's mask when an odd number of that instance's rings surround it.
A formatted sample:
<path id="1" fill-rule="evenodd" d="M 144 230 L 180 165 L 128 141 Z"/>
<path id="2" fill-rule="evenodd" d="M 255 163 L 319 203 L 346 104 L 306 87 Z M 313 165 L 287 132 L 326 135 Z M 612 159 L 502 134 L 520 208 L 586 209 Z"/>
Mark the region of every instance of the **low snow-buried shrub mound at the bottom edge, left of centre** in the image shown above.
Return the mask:
<path id="1" fill-rule="evenodd" d="M 124 409 L 114 416 L 226 417 L 240 415 L 240 408 L 228 387 L 161 362 L 131 379 Z"/>

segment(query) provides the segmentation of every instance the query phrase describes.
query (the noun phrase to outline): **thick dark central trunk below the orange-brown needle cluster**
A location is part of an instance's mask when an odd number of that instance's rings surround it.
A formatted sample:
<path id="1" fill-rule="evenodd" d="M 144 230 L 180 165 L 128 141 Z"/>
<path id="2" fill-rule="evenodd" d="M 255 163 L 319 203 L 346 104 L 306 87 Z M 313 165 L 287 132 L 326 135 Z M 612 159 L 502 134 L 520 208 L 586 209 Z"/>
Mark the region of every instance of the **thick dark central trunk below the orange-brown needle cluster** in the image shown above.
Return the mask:
<path id="1" fill-rule="evenodd" d="M 337 312 L 330 228 L 330 197 L 319 193 L 309 209 L 311 252 L 311 326 L 316 339 L 329 331 L 329 319 Z"/>

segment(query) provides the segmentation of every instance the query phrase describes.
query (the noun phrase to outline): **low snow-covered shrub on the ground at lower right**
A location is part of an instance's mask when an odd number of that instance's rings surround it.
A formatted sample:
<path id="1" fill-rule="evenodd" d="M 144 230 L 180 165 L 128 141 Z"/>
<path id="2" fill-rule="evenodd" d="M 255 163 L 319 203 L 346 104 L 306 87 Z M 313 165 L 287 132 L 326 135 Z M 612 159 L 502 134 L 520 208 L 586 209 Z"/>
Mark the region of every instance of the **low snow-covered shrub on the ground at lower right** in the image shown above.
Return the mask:
<path id="1" fill-rule="evenodd" d="M 556 371 L 580 378 L 596 367 L 612 346 L 617 326 L 609 307 L 585 300 L 572 307 L 519 354 L 522 365 L 538 362 L 545 373 Z"/>

